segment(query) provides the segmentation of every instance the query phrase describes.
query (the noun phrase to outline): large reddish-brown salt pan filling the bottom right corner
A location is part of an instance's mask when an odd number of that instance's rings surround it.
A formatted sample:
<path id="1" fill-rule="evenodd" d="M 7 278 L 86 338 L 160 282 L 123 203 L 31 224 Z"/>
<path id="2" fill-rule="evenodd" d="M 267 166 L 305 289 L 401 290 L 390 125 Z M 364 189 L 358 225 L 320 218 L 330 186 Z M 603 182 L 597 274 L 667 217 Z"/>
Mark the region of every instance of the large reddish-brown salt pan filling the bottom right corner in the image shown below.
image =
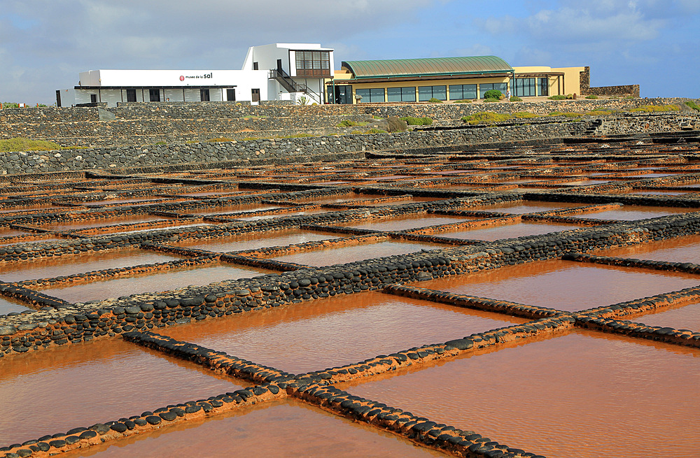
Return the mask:
<path id="1" fill-rule="evenodd" d="M 574 331 L 397 375 L 349 391 L 549 458 L 700 447 L 698 350 Z"/>

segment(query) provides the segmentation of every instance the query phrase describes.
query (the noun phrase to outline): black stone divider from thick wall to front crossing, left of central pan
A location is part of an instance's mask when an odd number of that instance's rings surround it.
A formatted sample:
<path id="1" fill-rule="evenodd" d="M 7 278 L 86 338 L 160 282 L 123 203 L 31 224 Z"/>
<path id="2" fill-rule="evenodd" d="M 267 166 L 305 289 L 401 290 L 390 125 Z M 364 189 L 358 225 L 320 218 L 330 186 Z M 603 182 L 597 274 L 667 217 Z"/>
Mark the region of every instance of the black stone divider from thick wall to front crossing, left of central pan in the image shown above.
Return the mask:
<path id="1" fill-rule="evenodd" d="M 137 343 L 146 348 L 158 350 L 186 361 L 195 362 L 207 367 L 216 373 L 225 373 L 231 377 L 247 380 L 255 383 L 283 383 L 292 380 L 291 373 L 278 371 L 269 366 L 262 366 L 246 359 L 240 359 L 227 355 L 225 352 L 217 352 L 201 345 L 177 341 L 174 338 L 161 336 L 153 332 L 131 331 L 122 334 L 126 341 Z"/>

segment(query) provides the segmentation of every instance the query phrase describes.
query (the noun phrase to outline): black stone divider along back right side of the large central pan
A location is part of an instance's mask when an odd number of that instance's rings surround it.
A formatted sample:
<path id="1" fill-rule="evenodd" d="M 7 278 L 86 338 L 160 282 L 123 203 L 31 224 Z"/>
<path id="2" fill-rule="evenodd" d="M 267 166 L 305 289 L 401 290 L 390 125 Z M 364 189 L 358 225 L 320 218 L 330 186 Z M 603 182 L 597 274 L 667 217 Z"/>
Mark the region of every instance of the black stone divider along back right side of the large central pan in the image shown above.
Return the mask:
<path id="1" fill-rule="evenodd" d="M 450 306 L 473 308 L 486 312 L 503 313 L 514 317 L 529 318 L 538 320 L 540 318 L 556 317 L 562 314 L 561 310 L 554 308 L 528 306 L 522 303 L 500 301 L 478 296 L 468 296 L 466 294 L 454 294 L 450 292 L 437 291 L 435 289 L 418 288 L 406 285 L 388 285 L 383 291 L 396 296 L 411 297 L 413 299 L 423 299 L 424 301 L 446 303 Z"/>

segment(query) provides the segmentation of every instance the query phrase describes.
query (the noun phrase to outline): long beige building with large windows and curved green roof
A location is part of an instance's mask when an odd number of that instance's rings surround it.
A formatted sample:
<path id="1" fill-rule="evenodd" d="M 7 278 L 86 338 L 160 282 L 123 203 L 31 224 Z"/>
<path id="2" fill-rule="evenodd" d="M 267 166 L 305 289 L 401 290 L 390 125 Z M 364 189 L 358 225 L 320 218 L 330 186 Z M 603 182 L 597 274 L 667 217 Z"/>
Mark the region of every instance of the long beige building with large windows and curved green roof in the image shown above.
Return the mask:
<path id="1" fill-rule="evenodd" d="M 489 90 L 533 97 L 581 94 L 584 67 L 512 67 L 496 56 L 342 62 L 325 82 L 331 103 L 483 99 Z"/>

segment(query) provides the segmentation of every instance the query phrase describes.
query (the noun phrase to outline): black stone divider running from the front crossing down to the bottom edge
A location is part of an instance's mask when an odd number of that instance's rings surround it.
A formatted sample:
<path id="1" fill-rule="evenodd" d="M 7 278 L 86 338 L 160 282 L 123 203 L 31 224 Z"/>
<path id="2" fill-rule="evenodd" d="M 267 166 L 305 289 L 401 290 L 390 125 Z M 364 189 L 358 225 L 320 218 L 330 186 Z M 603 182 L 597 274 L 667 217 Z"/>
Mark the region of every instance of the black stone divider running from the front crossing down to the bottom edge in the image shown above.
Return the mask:
<path id="1" fill-rule="evenodd" d="M 353 396 L 336 387 L 303 385 L 288 387 L 287 391 L 291 396 L 335 415 L 370 424 L 449 455 L 468 458 L 544 458 L 497 443 L 474 431 L 457 429 L 384 403 Z"/>

